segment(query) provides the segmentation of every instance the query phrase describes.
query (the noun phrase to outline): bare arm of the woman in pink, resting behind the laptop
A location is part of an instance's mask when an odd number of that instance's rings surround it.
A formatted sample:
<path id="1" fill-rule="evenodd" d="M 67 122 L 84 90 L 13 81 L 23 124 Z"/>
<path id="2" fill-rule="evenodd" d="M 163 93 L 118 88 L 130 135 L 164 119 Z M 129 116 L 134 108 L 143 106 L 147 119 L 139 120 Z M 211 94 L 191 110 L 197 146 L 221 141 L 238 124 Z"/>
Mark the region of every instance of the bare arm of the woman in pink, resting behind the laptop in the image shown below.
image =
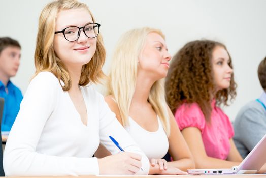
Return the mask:
<path id="1" fill-rule="evenodd" d="M 226 161 L 207 156 L 202 140 L 202 134 L 199 129 L 188 127 L 182 130 L 182 134 L 194 157 L 197 169 L 231 168 L 232 166 L 238 166 L 240 164 L 240 161 Z"/>

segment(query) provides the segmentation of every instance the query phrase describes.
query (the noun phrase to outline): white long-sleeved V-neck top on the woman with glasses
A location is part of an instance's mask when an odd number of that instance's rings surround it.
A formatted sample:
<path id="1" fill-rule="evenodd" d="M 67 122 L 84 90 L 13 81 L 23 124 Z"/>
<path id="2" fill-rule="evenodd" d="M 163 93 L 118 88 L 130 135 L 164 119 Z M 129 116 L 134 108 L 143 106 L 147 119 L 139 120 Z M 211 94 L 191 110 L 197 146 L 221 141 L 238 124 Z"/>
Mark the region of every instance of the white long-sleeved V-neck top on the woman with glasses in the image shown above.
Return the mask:
<path id="1" fill-rule="evenodd" d="M 110 135 L 125 151 L 142 156 L 143 171 L 137 174 L 148 174 L 148 158 L 117 121 L 104 97 L 92 86 L 81 87 L 81 91 L 87 126 L 52 73 L 41 72 L 31 80 L 5 147 L 6 175 L 98 175 L 98 161 L 92 155 L 99 142 L 112 154 L 120 152 Z"/>

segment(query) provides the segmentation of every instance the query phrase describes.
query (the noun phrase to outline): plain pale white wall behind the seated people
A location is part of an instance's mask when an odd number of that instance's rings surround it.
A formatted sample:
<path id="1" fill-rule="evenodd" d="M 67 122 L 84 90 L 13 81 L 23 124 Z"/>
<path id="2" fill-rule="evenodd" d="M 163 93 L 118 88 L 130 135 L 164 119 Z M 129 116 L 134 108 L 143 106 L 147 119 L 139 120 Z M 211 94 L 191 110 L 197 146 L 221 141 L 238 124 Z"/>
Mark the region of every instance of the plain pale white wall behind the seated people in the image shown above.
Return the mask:
<path id="1" fill-rule="evenodd" d="M 0 0 L 0 36 L 9 36 L 22 46 L 21 64 L 12 81 L 23 94 L 35 72 L 34 51 L 38 18 L 48 0 Z M 104 72 L 119 36 L 132 28 L 159 28 L 166 36 L 170 54 L 197 39 L 224 43 L 232 57 L 236 100 L 223 107 L 234 120 L 238 110 L 258 98 L 262 89 L 257 77 L 259 62 L 266 56 L 265 0 L 87 0 L 107 50 Z M 103 91 L 103 87 L 97 86 Z"/>

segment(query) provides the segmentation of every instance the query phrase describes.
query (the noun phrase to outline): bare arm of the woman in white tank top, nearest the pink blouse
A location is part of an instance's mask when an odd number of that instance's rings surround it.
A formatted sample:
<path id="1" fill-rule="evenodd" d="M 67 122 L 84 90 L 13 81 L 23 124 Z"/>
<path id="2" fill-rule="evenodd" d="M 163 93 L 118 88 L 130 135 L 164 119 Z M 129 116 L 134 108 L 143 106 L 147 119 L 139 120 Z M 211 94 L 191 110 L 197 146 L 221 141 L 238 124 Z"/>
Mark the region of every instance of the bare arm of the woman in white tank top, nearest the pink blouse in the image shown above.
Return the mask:
<path id="1" fill-rule="evenodd" d="M 169 137 L 169 153 L 173 158 L 173 161 L 168 162 L 168 165 L 179 168 L 183 171 L 187 171 L 187 169 L 194 169 L 195 163 L 191 152 L 178 128 L 178 125 L 175 121 L 175 117 L 169 107 L 168 113 L 170 116 L 171 126 L 171 133 Z"/>

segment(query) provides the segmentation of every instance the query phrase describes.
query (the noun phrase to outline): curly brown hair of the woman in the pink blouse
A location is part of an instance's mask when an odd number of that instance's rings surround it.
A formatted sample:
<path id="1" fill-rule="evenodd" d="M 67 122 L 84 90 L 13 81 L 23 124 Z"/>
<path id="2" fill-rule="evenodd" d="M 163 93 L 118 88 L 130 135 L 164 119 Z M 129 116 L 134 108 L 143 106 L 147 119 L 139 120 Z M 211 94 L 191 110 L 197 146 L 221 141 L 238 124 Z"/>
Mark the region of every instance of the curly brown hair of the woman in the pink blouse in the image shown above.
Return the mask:
<path id="1" fill-rule="evenodd" d="M 187 43 L 172 58 L 165 80 L 165 91 L 167 102 L 174 114 L 184 102 L 197 103 L 201 107 L 206 121 L 210 122 L 212 94 L 215 94 L 211 59 L 216 46 L 221 46 L 227 51 L 222 43 L 196 40 Z M 232 68 L 230 55 L 229 59 L 229 66 Z M 221 103 L 228 105 L 229 96 L 231 101 L 237 95 L 236 87 L 237 84 L 232 73 L 230 87 L 219 90 L 215 94 L 217 105 Z"/>

